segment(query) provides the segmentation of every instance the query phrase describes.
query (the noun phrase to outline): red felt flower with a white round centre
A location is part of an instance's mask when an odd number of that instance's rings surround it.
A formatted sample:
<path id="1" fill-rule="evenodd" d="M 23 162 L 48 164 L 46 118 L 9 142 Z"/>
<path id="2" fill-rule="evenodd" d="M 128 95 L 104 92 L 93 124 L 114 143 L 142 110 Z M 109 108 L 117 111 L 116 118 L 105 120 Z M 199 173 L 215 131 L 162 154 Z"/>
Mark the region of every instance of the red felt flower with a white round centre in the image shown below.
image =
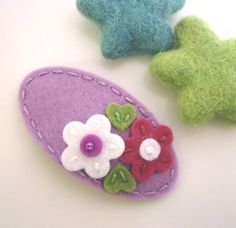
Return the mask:
<path id="1" fill-rule="evenodd" d="M 153 127 L 148 120 L 138 119 L 131 127 L 131 137 L 125 141 L 121 160 L 131 165 L 131 172 L 137 181 L 145 181 L 155 172 L 170 168 L 172 141 L 173 133 L 169 127 Z"/>

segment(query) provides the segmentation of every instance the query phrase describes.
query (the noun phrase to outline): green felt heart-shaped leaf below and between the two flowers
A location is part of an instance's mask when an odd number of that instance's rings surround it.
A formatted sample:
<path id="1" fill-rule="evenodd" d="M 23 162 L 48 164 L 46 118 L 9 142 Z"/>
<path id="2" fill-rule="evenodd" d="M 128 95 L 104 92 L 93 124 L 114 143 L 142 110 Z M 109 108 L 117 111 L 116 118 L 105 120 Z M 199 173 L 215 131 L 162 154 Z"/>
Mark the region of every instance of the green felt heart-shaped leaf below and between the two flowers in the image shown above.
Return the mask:
<path id="1" fill-rule="evenodd" d="M 130 171 L 118 163 L 104 179 L 103 187 L 109 193 L 132 192 L 136 188 L 136 181 Z"/>

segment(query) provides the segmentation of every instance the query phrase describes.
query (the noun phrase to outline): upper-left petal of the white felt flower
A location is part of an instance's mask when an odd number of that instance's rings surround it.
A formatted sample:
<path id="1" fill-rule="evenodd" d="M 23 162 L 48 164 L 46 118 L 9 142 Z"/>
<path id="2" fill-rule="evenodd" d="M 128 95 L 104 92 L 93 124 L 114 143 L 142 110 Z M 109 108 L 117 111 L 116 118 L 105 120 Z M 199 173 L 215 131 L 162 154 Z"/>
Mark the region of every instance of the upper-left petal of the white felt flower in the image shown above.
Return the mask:
<path id="1" fill-rule="evenodd" d="M 84 136 L 85 125 L 79 121 L 68 123 L 63 129 L 63 139 L 67 145 L 79 142 L 79 139 Z"/>

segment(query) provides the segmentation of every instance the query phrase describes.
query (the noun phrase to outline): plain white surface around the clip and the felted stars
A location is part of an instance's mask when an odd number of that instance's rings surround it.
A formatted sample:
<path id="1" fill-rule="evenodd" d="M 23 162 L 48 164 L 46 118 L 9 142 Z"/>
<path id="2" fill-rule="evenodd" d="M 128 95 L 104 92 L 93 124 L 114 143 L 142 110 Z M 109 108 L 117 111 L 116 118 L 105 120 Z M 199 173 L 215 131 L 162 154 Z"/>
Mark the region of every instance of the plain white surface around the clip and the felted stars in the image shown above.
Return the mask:
<path id="1" fill-rule="evenodd" d="M 187 0 L 171 17 L 199 15 L 236 37 L 235 1 Z M 236 126 L 180 121 L 175 93 L 148 71 L 150 57 L 105 60 L 100 32 L 74 0 L 0 0 L 0 227 L 235 228 Z M 173 191 L 139 202 L 77 181 L 34 143 L 18 108 L 24 76 L 49 65 L 78 67 L 118 83 L 175 132 L 180 173 Z"/>

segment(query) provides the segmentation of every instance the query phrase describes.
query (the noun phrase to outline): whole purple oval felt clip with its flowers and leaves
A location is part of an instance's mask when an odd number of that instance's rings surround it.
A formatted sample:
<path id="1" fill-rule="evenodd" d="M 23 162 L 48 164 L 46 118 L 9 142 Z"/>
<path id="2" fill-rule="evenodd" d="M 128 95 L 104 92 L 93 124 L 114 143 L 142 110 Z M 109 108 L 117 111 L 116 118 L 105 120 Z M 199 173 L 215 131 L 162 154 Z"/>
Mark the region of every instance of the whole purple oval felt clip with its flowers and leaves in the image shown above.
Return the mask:
<path id="1" fill-rule="evenodd" d="M 26 77 L 19 100 L 43 150 L 79 179 L 141 199 L 173 186 L 171 129 L 117 85 L 82 70 L 48 67 Z"/>

